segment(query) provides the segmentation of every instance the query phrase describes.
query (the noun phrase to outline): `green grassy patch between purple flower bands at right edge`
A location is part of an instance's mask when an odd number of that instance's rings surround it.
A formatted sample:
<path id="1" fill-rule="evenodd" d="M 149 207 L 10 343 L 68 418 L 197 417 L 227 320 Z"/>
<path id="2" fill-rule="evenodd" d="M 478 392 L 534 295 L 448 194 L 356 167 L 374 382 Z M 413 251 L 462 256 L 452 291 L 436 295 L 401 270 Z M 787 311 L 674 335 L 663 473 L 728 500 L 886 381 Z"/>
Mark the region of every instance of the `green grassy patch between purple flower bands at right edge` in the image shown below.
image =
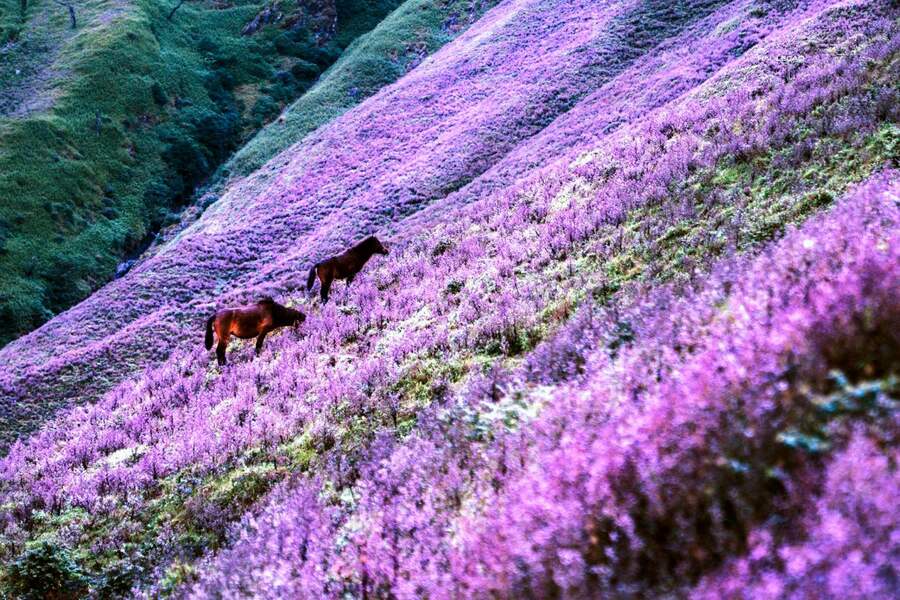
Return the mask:
<path id="1" fill-rule="evenodd" d="M 829 206 L 853 183 L 895 164 L 898 149 L 900 128 L 884 123 L 874 132 L 849 139 L 818 140 L 802 168 L 784 169 L 776 160 L 793 147 L 752 160 L 722 160 L 683 184 L 698 198 L 691 216 L 656 234 L 653 223 L 663 207 L 646 206 L 629 214 L 621 226 L 622 251 L 603 265 L 597 289 L 605 290 L 600 294 L 604 296 L 633 281 L 683 281 L 729 245 L 744 252 L 777 239 L 785 228 Z M 731 200 L 706 203 L 713 193 Z M 610 228 L 606 235 L 617 232 Z M 576 270 L 595 277 L 596 273 L 586 272 L 591 269 L 589 265 Z M 597 294 L 595 299 L 603 300 Z"/>

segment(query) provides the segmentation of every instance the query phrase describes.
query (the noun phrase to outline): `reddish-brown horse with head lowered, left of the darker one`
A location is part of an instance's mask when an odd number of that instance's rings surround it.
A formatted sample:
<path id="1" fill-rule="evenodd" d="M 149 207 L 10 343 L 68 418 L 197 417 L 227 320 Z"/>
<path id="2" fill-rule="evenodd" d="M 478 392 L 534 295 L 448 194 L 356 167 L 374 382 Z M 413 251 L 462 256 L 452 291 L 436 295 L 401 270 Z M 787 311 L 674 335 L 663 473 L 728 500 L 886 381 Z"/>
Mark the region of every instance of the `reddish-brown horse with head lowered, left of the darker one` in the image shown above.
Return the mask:
<path id="1" fill-rule="evenodd" d="M 242 340 L 255 337 L 258 356 L 267 333 L 279 327 L 297 327 L 305 320 L 306 315 L 299 310 L 282 306 L 271 298 L 263 298 L 251 306 L 225 308 L 206 321 L 206 349 L 212 348 L 215 331 L 219 338 L 216 358 L 220 365 L 225 364 L 225 348 L 232 335 Z"/>

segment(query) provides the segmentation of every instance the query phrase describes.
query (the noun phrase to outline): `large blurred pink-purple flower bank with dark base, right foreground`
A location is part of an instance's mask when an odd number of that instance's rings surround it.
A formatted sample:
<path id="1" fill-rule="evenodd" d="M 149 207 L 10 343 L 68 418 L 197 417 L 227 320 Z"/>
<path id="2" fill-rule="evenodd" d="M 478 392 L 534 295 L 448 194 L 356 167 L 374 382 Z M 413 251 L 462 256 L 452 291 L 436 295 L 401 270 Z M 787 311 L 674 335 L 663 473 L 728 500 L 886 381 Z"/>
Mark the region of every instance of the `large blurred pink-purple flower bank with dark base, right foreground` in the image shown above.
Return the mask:
<path id="1" fill-rule="evenodd" d="M 541 421 L 552 423 L 542 432 L 552 442 L 463 535 L 463 589 L 546 596 L 675 586 L 744 551 L 755 522 L 802 514 L 822 485 L 820 452 L 840 452 L 852 432 L 814 422 L 827 374 L 897 368 L 897 191 L 862 192 L 738 279 L 712 279 L 701 297 L 722 300 L 705 314 L 696 299 L 679 299 L 649 340 L 618 359 L 637 381 L 606 389 L 588 379 L 581 402 L 590 419 L 583 408 L 573 422 L 571 406 L 558 414 L 551 402 Z M 727 294 L 715 291 L 726 285 Z M 679 305 L 695 314 L 685 320 Z M 681 340 L 695 349 L 680 350 Z M 884 403 L 886 414 L 873 417 L 896 424 L 896 400 Z M 878 439 L 872 420 L 856 426 Z M 881 472 L 884 483 L 895 477 Z"/>

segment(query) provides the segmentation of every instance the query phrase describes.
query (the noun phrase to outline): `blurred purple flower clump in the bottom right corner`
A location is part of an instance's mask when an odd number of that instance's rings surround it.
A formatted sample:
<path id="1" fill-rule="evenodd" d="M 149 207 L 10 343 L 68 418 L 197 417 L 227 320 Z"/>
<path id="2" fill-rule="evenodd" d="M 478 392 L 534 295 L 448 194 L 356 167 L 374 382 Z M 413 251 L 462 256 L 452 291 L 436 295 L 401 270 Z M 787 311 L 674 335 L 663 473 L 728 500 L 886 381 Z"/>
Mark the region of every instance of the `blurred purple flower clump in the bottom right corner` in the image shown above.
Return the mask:
<path id="1" fill-rule="evenodd" d="M 898 527 L 892 498 L 900 484 L 892 442 L 885 451 L 864 434 L 852 437 L 828 467 L 824 491 L 803 523 L 806 539 L 779 547 L 771 531 L 751 532 L 746 556 L 702 581 L 695 597 L 892 596 Z"/>

